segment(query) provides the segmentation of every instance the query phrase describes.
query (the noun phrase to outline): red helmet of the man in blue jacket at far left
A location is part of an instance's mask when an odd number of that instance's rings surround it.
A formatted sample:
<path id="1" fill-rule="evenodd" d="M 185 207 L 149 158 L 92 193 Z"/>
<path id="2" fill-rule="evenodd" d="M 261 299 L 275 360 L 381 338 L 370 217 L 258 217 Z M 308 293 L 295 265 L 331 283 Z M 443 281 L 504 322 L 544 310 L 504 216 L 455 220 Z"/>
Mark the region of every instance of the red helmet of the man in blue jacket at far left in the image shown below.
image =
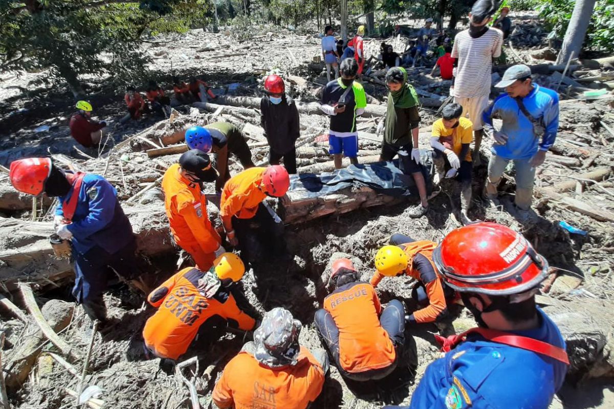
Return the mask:
<path id="1" fill-rule="evenodd" d="M 51 159 L 27 158 L 10 162 L 10 183 L 20 192 L 38 196 L 51 174 Z"/>

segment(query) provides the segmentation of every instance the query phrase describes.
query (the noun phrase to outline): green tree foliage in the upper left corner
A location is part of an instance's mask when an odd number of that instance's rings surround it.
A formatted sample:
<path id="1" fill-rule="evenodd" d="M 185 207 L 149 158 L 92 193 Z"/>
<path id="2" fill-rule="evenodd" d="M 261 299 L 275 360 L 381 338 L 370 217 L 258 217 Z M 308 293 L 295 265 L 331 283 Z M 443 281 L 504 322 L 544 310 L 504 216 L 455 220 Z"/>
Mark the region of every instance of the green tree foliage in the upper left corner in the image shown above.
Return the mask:
<path id="1" fill-rule="evenodd" d="M 80 75 L 130 80 L 144 71 L 144 32 L 182 31 L 207 11 L 203 0 L 18 0 L 0 2 L 0 66 L 49 69 L 77 97 Z"/>

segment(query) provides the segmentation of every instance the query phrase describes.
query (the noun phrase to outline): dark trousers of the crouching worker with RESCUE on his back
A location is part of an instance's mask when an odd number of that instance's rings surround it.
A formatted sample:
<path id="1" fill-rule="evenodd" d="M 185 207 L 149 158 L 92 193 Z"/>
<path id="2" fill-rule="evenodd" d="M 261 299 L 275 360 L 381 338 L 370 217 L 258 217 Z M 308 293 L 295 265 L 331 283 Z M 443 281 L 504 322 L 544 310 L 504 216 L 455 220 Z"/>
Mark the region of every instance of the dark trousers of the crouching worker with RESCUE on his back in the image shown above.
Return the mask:
<path id="1" fill-rule="evenodd" d="M 392 343 L 394 343 L 395 352 L 397 354 L 395 361 L 386 368 L 371 369 L 358 373 L 346 372 L 343 370 L 343 367 L 341 367 L 339 361 L 339 328 L 335 324 L 333 316 L 321 308 L 316 311 L 314 323 L 327 347 L 332 361 L 335 362 L 339 373 L 344 377 L 361 382 L 378 380 L 390 375 L 397 367 L 399 355 L 402 354 L 402 347 L 405 343 L 405 336 L 403 335 L 403 332 L 405 332 L 405 308 L 403 308 L 403 304 L 399 300 L 391 300 L 388 305 L 386 305 L 386 308 L 384 308 L 381 316 L 379 316 L 379 323 L 388 333 Z"/>

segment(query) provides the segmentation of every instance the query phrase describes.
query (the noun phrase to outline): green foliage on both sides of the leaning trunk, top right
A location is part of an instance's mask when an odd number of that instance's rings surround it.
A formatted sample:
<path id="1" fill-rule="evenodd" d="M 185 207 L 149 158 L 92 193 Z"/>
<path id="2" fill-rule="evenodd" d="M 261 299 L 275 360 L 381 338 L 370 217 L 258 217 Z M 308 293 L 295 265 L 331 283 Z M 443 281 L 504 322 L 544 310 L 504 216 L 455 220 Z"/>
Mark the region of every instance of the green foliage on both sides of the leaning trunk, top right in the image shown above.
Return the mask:
<path id="1" fill-rule="evenodd" d="M 540 0 L 540 17 L 546 21 L 550 38 L 562 39 L 572 17 L 575 0 Z M 614 51 L 614 0 L 598 0 L 591 18 L 585 48 Z"/>

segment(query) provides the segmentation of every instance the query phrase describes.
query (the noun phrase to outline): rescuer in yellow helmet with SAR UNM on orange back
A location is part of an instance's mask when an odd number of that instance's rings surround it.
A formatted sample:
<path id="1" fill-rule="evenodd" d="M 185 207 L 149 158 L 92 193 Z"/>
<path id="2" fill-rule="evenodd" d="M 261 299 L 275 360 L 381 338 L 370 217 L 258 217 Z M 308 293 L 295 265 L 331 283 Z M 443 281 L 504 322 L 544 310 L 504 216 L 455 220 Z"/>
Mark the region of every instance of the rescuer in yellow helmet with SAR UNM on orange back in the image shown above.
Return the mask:
<path id="1" fill-rule="evenodd" d="M 254 328 L 254 318 L 239 309 L 230 292 L 233 283 L 245 273 L 243 262 L 236 254 L 223 253 L 214 265 L 206 272 L 187 267 L 149 294 L 147 301 L 158 310 L 143 329 L 148 352 L 176 361 L 187 351 L 200 327 L 209 320 L 219 321 L 219 317 L 228 326 L 243 331 Z"/>

